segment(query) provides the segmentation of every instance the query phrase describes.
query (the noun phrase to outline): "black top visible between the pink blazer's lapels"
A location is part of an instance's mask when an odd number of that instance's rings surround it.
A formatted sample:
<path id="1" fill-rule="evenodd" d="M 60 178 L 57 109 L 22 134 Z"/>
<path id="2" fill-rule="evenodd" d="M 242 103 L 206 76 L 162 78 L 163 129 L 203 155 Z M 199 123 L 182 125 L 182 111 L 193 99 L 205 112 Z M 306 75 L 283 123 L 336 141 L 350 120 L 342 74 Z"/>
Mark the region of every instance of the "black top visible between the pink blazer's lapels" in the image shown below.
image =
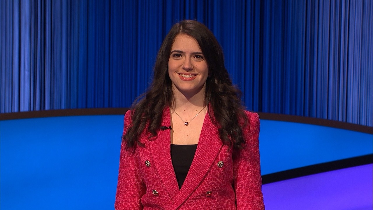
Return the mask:
<path id="1" fill-rule="evenodd" d="M 177 145 L 171 144 L 171 160 L 173 170 L 175 170 L 176 180 L 178 180 L 179 189 L 184 183 L 189 168 L 192 165 L 197 144 Z"/>

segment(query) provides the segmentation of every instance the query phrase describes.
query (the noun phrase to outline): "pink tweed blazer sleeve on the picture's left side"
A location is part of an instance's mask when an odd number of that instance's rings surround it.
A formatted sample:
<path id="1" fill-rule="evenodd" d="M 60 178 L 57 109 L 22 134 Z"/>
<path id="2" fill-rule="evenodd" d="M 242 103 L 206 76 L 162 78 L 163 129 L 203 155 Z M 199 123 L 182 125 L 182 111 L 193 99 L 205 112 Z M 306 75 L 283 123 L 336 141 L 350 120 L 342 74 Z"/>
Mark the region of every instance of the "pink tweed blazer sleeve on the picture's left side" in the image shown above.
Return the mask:
<path id="1" fill-rule="evenodd" d="M 131 112 L 127 111 L 124 117 L 125 134 L 131 124 Z M 143 209 L 141 197 L 145 194 L 145 185 L 140 176 L 140 166 L 137 158 L 137 151 L 126 150 L 122 141 L 119 158 L 118 185 L 115 198 L 115 210 Z"/>

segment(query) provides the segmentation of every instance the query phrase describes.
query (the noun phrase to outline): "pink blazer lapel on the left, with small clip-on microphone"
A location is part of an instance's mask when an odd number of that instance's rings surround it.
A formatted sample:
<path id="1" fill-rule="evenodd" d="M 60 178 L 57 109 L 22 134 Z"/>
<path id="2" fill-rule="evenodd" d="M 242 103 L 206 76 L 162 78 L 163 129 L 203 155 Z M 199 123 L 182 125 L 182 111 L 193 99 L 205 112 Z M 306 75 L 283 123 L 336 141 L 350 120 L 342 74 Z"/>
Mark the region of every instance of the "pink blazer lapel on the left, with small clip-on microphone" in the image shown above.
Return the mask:
<path id="1" fill-rule="evenodd" d="M 170 126 L 170 111 L 168 107 L 163 110 L 161 126 Z M 171 200 L 174 200 L 179 192 L 179 186 L 172 166 L 170 144 L 170 129 L 160 130 L 157 137 L 149 141 L 154 165 L 158 170 L 163 186 L 167 189 Z"/>

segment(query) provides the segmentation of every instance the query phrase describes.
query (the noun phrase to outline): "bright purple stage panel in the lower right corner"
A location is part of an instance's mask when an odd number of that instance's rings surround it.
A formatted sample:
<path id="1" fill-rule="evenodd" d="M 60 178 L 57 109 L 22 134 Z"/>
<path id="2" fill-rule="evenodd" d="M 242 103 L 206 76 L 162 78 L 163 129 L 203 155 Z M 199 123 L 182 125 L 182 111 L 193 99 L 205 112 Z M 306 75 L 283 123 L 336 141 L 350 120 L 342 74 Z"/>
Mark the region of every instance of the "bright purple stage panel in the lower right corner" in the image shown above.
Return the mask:
<path id="1" fill-rule="evenodd" d="M 373 164 L 263 185 L 269 210 L 372 210 Z"/>

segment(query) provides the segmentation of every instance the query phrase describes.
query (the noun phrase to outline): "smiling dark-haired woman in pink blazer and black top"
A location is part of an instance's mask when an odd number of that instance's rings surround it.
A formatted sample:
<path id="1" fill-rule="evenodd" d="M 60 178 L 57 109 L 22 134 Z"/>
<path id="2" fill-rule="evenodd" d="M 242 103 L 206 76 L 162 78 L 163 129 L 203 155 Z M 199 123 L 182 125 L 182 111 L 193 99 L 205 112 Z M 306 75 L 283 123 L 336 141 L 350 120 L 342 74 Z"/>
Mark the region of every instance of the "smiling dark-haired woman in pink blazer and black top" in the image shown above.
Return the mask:
<path id="1" fill-rule="evenodd" d="M 211 31 L 173 25 L 125 114 L 115 209 L 264 209 L 259 118 L 238 93 Z"/>

